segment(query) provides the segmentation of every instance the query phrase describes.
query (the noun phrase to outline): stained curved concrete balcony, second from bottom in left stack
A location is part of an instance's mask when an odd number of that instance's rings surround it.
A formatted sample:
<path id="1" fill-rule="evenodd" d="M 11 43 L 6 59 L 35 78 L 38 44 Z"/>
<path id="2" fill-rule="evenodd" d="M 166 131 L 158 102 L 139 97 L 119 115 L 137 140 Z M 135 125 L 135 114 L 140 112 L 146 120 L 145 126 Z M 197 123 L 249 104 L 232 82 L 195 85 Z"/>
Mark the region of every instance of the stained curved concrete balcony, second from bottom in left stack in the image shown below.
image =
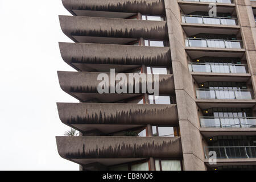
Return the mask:
<path id="1" fill-rule="evenodd" d="M 97 130 L 111 134 L 148 124 L 179 124 L 176 105 L 58 103 L 57 107 L 61 121 L 82 133 Z"/>

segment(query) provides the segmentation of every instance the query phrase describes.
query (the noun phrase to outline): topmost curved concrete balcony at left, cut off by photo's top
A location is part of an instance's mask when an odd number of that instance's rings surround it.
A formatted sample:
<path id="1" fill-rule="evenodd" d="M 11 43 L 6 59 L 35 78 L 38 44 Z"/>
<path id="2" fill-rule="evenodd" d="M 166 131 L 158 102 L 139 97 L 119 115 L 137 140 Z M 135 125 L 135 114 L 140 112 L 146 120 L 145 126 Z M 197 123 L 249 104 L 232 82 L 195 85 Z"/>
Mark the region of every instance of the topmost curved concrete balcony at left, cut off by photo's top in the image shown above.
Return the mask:
<path id="1" fill-rule="evenodd" d="M 63 0 L 64 7 L 73 15 L 88 15 L 88 11 L 92 11 L 90 15 L 97 16 L 96 12 L 105 11 L 109 14 L 101 14 L 103 17 L 108 17 L 110 13 L 134 13 L 163 15 L 166 13 L 164 9 L 164 0 Z M 117 16 L 114 16 L 117 17 Z M 129 16 L 127 16 L 129 17 Z M 127 18 L 126 17 L 126 18 Z"/>

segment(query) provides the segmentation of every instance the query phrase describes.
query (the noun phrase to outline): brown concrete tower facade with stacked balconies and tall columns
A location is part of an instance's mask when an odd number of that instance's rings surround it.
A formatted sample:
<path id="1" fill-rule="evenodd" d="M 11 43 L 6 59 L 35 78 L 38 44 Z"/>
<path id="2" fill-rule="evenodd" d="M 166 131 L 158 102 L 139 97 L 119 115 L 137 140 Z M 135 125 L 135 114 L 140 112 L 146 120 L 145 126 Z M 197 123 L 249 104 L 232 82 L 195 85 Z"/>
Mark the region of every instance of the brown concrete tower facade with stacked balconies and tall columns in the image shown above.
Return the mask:
<path id="1" fill-rule="evenodd" d="M 202 116 L 210 108 L 246 108 L 250 109 L 251 117 L 256 117 L 256 2 L 216 1 L 220 21 L 229 14 L 228 18 L 232 18 L 229 20 L 236 22 L 230 24 L 209 23 L 205 22 L 208 16 L 194 16 L 198 12 L 208 13 L 209 2 L 203 0 L 63 0 L 63 5 L 72 16 L 59 16 L 61 29 L 75 43 L 59 43 L 60 52 L 77 72 L 58 72 L 58 76 L 61 89 L 80 103 L 58 103 L 57 107 L 61 122 L 79 130 L 80 137 L 56 137 L 61 157 L 80 164 L 84 170 L 108 170 L 110 166 L 146 160 L 154 171 L 155 159 L 178 159 L 181 169 L 195 171 L 256 165 L 253 154 L 240 159 L 220 158 L 217 164 L 210 165 L 205 152 L 209 138 L 253 137 L 255 127 L 202 126 Z M 143 15 L 164 19 L 142 20 Z M 189 22 L 185 15 L 202 18 L 203 22 L 198 19 Z M 205 40 L 207 46 L 193 46 L 189 42 L 198 40 L 196 37 L 202 34 L 235 35 L 240 46 L 232 47 L 233 42 L 226 46 L 227 40 L 225 47 L 209 46 L 209 40 L 201 37 L 200 41 Z M 144 40 L 166 44 L 150 47 L 145 46 Z M 192 60 L 199 61 L 200 57 L 236 57 L 247 69 L 245 72 L 191 70 Z M 148 93 L 97 92 L 99 73 L 110 74 L 110 69 L 115 69 L 116 73 L 128 75 L 138 68 L 147 73 L 147 67 L 170 69 L 167 74 L 159 75 L 159 94 L 171 96 L 171 104 L 150 104 Z M 251 90 L 251 98 L 199 97 L 200 85 L 220 81 L 244 82 Z M 141 96 L 142 105 L 130 102 Z M 175 137 L 155 137 L 152 126 L 172 126 L 179 131 Z M 143 127 L 147 137 L 115 135 Z"/>

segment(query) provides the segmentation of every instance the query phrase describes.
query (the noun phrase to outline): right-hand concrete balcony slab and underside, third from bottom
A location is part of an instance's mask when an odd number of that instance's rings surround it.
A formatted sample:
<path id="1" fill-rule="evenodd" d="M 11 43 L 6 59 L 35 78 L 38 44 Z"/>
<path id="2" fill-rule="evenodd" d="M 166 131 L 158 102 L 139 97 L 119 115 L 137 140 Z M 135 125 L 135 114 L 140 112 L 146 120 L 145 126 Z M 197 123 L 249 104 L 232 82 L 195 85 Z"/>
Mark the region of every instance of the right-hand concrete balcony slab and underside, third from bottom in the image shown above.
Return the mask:
<path id="1" fill-rule="evenodd" d="M 196 100 L 196 104 L 203 110 L 213 107 L 253 108 L 256 100 Z"/>

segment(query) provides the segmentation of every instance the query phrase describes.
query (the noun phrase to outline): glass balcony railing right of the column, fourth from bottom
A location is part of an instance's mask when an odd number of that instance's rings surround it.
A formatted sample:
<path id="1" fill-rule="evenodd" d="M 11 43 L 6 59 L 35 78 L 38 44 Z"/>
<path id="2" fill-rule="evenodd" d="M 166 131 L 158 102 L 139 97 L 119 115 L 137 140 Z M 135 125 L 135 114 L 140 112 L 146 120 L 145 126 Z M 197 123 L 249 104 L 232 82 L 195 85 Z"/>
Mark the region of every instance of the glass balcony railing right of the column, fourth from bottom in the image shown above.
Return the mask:
<path id="1" fill-rule="evenodd" d="M 232 63 L 189 63 L 189 71 L 204 73 L 248 73 L 246 64 Z"/>

